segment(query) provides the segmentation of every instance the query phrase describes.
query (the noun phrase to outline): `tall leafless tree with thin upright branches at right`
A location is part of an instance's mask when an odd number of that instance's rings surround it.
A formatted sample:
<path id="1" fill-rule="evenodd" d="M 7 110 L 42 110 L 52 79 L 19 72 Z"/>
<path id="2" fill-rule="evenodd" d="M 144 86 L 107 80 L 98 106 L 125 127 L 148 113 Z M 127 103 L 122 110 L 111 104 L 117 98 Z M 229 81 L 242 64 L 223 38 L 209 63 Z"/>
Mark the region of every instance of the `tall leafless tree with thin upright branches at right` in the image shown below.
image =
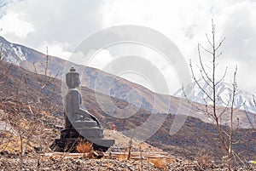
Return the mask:
<path id="1" fill-rule="evenodd" d="M 224 152 L 227 157 L 227 162 L 228 162 L 228 169 L 231 170 L 231 161 L 233 158 L 233 144 L 234 144 L 234 131 L 235 131 L 235 123 L 234 123 L 234 103 L 236 100 L 236 70 L 234 72 L 234 77 L 232 80 L 232 90 L 230 93 L 230 100 L 226 102 L 226 107 L 224 110 L 219 111 L 217 104 L 219 98 L 218 94 L 218 84 L 222 83 L 224 81 L 224 77 L 227 72 L 227 68 L 225 68 L 224 75 L 220 77 L 220 79 L 217 78 L 217 71 L 218 71 L 218 57 L 222 54 L 222 52 L 218 53 L 219 48 L 221 47 L 222 43 L 224 43 L 223 38 L 219 43 L 216 41 L 216 32 L 215 32 L 215 25 L 212 20 L 212 37 L 207 37 L 207 42 L 209 43 L 210 48 L 205 48 L 201 44 L 198 44 L 198 54 L 199 54 L 199 62 L 200 62 L 200 77 L 195 76 L 195 69 L 193 68 L 191 61 L 190 61 L 190 69 L 192 72 L 192 77 L 195 80 L 195 83 L 197 86 L 201 89 L 203 94 L 206 96 L 206 101 L 210 100 L 211 105 L 206 105 L 204 109 L 199 109 L 203 111 L 207 117 L 211 118 L 212 123 L 215 125 L 217 134 L 218 134 L 218 140 L 220 140 L 220 143 L 222 144 L 222 147 L 224 149 Z M 204 64 L 201 56 L 201 50 L 205 51 L 207 54 L 210 54 L 212 56 L 212 66 L 207 66 Z M 200 79 L 199 79 L 200 78 Z M 211 89 L 210 92 L 206 91 L 202 86 L 201 86 L 201 81 L 203 83 L 207 83 L 207 86 Z M 230 125 L 229 125 L 229 130 L 224 130 L 224 128 L 221 127 L 221 117 L 224 115 L 224 113 L 229 113 L 230 117 Z"/>

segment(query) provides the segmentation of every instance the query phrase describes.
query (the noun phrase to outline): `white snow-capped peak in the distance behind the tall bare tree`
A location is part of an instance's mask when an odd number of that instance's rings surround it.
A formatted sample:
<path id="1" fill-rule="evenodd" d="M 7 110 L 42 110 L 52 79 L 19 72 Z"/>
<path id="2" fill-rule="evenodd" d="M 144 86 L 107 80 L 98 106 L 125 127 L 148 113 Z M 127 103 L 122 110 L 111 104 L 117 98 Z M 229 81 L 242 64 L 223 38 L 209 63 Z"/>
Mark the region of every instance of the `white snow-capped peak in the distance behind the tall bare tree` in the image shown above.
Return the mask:
<path id="1" fill-rule="evenodd" d="M 195 101 L 197 103 L 212 105 L 212 100 L 209 97 L 207 97 L 207 94 L 209 94 L 210 97 L 213 96 L 212 87 L 208 85 L 206 82 L 203 82 L 203 80 L 199 80 L 198 83 L 200 83 L 200 86 L 204 89 L 205 93 L 203 90 L 201 90 L 197 83 L 194 82 L 185 86 L 184 88 L 180 88 L 179 90 L 177 90 L 176 93 L 172 95 L 181 98 L 188 98 L 189 100 Z M 217 105 L 231 106 L 232 91 L 232 84 L 224 82 L 218 83 L 216 90 Z M 256 104 L 253 101 L 253 94 L 237 89 L 234 108 L 256 113 Z"/>

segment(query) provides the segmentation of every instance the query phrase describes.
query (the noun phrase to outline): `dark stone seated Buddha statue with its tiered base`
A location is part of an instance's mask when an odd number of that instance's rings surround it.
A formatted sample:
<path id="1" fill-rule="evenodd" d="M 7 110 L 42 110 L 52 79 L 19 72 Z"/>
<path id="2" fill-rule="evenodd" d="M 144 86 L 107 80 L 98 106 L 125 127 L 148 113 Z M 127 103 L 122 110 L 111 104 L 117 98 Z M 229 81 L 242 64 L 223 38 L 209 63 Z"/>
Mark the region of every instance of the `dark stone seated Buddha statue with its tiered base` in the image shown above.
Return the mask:
<path id="1" fill-rule="evenodd" d="M 107 151 L 114 140 L 104 140 L 103 129 L 96 117 L 84 109 L 79 92 L 79 73 L 71 68 L 66 75 L 68 92 L 65 96 L 65 129 L 61 130 L 61 139 L 50 146 L 53 151 L 76 152 L 79 142 L 87 140 L 93 143 L 93 149 Z"/>

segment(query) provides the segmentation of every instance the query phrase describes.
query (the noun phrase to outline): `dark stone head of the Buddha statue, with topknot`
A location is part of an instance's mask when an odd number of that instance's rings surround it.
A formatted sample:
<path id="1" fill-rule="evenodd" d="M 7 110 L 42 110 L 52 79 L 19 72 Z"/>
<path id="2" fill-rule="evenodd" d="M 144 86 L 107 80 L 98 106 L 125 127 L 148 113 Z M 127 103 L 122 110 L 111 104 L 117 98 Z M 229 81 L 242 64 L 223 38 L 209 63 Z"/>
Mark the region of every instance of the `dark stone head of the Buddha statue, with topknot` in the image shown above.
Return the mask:
<path id="1" fill-rule="evenodd" d="M 79 72 L 73 67 L 66 74 L 66 83 L 68 88 L 78 88 L 80 84 Z"/>

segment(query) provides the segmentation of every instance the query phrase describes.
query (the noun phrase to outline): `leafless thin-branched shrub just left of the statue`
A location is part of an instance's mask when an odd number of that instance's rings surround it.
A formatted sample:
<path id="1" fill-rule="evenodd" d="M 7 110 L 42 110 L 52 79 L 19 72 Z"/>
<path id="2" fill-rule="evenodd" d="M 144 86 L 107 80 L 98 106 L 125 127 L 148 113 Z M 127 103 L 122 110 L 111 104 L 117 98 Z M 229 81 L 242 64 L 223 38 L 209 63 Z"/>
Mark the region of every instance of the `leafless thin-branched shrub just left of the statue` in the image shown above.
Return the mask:
<path id="1" fill-rule="evenodd" d="M 26 85 L 25 92 L 26 92 L 26 104 L 29 109 L 29 115 L 32 118 L 30 120 L 30 132 L 26 136 L 26 145 L 31 140 L 33 140 L 34 144 L 39 145 L 38 148 L 40 149 L 40 152 L 43 151 L 43 146 L 49 149 L 48 145 L 48 139 L 45 139 L 45 137 L 48 137 L 47 132 L 44 131 L 44 127 L 48 126 L 49 124 L 49 117 L 46 117 L 48 113 L 55 113 L 55 111 L 59 110 L 58 105 L 56 105 L 57 99 L 56 99 L 56 87 L 52 87 L 49 89 L 49 86 L 52 85 L 52 83 L 55 81 L 55 77 L 50 77 L 48 67 L 49 67 L 49 54 L 48 54 L 48 47 L 46 48 L 46 55 L 45 55 L 45 62 L 41 62 L 42 67 L 44 68 L 44 71 L 42 72 L 44 75 L 40 75 L 37 72 L 37 67 L 34 66 L 36 77 L 39 83 L 38 94 L 31 97 L 29 94 L 30 92 L 30 85 L 27 83 L 26 79 L 24 79 L 24 83 Z M 51 119 L 52 120 L 52 119 Z M 42 131 L 43 129 L 43 131 Z M 25 147 L 26 147 L 25 145 Z M 48 151 L 48 149 L 45 149 Z M 26 149 L 25 149 L 26 150 Z M 24 151 L 25 151 L 24 150 Z M 41 155 L 37 155 L 37 162 L 40 162 Z"/>

